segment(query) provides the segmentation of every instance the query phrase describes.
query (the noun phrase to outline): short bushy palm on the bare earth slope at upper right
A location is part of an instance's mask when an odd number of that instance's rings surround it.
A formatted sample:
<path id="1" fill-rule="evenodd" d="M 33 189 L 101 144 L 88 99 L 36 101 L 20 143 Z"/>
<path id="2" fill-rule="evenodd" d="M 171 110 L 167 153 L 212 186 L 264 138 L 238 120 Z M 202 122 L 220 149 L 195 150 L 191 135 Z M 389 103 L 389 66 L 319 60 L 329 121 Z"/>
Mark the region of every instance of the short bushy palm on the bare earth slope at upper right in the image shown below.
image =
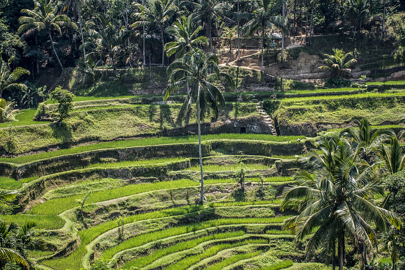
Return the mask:
<path id="1" fill-rule="evenodd" d="M 319 68 L 329 70 L 332 72 L 333 77 L 342 79 L 351 72 L 351 66 L 357 63 L 357 60 L 353 58 L 353 54 L 351 52 L 346 53 L 343 51 L 343 49 L 340 50 L 338 48 L 333 48 L 332 50 L 334 54 L 325 54 L 325 59 L 323 59 L 323 62 L 326 65 L 320 66 Z"/>

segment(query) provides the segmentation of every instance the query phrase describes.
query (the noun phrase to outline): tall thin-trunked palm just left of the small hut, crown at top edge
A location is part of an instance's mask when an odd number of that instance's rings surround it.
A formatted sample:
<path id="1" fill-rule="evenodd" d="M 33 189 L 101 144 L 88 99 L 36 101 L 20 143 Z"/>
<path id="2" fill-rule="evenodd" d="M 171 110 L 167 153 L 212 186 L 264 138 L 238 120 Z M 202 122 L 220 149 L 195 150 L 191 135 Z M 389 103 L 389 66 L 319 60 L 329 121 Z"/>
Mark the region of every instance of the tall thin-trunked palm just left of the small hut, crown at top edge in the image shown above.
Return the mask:
<path id="1" fill-rule="evenodd" d="M 251 13 L 251 19 L 245 24 L 245 31 L 252 35 L 258 30 L 261 31 L 261 48 L 262 48 L 262 67 L 260 71 L 263 72 L 263 47 L 264 47 L 264 35 L 268 28 L 274 26 L 285 27 L 287 26 L 287 20 L 281 16 L 274 16 L 275 2 L 272 0 L 257 0 L 252 1 L 251 5 L 254 11 Z"/>

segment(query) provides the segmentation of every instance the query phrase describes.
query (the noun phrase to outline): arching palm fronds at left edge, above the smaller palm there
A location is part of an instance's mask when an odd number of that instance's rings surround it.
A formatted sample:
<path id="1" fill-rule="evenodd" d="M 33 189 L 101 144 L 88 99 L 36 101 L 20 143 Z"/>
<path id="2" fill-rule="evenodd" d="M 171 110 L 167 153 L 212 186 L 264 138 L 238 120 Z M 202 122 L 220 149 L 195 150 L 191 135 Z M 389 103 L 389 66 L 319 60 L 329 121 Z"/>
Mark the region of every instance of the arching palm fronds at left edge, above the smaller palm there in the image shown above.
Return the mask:
<path id="1" fill-rule="evenodd" d="M 18 79 L 24 75 L 30 75 L 30 71 L 22 67 L 17 67 L 12 70 L 10 64 L 3 60 L 2 53 L 0 52 L 0 99 L 2 99 L 4 90 L 27 89 L 27 85 L 17 83 Z"/>

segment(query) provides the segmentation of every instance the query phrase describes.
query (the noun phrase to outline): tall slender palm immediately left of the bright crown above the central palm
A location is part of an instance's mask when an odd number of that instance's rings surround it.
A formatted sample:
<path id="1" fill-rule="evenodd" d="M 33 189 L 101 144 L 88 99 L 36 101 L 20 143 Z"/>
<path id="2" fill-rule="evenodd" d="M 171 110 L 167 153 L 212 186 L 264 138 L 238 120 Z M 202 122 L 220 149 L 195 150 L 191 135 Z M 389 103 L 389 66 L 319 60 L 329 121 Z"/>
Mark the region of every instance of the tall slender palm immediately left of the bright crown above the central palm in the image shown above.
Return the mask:
<path id="1" fill-rule="evenodd" d="M 133 15 L 139 17 L 140 20 L 133 23 L 132 27 L 136 27 L 138 25 L 148 27 L 156 25 L 159 28 L 162 39 L 162 67 L 164 67 L 164 30 L 172 19 L 172 16 L 178 10 L 178 7 L 174 5 L 174 0 L 147 0 L 146 5 L 135 4 L 135 6 L 140 10 L 140 12 L 136 12 Z"/>

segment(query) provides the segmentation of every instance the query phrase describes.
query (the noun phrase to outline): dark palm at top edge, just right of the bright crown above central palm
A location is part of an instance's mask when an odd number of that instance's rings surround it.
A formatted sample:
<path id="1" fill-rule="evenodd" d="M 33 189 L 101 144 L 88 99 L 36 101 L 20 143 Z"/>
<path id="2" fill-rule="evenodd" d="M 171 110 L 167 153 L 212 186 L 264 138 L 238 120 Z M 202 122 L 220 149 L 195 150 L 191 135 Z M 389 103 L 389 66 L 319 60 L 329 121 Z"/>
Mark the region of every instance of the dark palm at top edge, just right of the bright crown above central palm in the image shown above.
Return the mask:
<path id="1" fill-rule="evenodd" d="M 229 13 L 230 5 L 219 0 L 197 0 L 196 2 L 186 1 L 192 10 L 195 10 L 191 16 L 195 20 L 201 20 L 205 24 L 206 36 L 210 42 L 210 51 L 212 52 L 212 20 L 224 17 Z"/>

